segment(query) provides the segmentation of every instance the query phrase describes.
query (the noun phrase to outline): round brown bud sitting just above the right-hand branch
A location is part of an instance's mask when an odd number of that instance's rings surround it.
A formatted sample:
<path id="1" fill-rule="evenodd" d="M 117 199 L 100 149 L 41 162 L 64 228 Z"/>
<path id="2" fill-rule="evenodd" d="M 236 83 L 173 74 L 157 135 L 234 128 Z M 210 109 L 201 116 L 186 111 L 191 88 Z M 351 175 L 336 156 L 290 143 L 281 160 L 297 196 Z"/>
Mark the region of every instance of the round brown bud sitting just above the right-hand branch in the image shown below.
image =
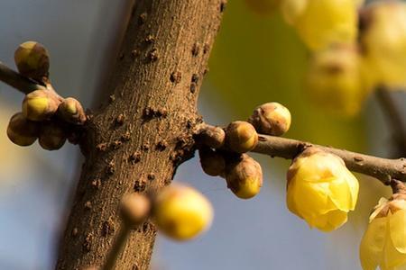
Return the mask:
<path id="1" fill-rule="evenodd" d="M 258 106 L 248 119 L 260 133 L 281 136 L 291 127 L 291 112 L 280 103 Z"/>

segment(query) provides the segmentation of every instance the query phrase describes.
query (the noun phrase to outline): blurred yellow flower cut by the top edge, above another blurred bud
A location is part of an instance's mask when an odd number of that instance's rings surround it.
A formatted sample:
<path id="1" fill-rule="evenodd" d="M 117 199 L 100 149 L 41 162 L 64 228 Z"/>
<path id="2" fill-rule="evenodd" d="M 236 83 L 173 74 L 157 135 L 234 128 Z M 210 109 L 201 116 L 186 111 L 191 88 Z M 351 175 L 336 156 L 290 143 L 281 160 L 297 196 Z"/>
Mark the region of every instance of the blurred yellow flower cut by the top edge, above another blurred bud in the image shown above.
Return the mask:
<path id="1" fill-rule="evenodd" d="M 309 49 L 351 43 L 357 34 L 355 0 L 283 0 L 281 12 Z"/>

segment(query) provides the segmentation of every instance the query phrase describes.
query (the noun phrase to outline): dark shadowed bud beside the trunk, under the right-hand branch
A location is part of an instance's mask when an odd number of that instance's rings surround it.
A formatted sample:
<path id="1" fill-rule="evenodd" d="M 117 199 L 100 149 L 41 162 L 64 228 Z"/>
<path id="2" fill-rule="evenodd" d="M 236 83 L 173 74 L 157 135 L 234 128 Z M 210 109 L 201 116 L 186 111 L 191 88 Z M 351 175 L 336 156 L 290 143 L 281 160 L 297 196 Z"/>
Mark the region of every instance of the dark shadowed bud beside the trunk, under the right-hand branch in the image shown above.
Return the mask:
<path id="1" fill-rule="evenodd" d="M 220 153 L 210 148 L 200 148 L 198 150 L 200 165 L 203 171 L 211 176 L 224 175 L 226 161 Z"/>

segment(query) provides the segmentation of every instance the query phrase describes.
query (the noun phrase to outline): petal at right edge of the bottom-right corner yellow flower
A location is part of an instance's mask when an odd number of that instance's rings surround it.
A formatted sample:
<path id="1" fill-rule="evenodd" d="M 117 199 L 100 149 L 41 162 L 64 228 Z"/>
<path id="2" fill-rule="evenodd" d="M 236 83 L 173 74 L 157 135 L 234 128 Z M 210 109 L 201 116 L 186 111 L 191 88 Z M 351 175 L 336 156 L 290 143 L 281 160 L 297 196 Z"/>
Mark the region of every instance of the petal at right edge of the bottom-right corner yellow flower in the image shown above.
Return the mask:
<path id="1" fill-rule="evenodd" d="M 406 254 L 406 211 L 399 210 L 393 213 L 389 219 L 389 227 L 393 246 Z"/>

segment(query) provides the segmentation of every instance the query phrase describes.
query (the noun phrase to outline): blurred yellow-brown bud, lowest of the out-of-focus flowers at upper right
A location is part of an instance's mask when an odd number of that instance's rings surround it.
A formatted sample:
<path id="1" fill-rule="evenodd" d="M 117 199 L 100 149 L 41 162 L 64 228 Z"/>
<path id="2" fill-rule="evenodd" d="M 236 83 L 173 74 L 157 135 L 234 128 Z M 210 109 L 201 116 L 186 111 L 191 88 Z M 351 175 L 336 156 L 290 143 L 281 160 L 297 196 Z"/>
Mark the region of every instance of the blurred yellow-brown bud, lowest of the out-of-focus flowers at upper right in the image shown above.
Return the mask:
<path id="1" fill-rule="evenodd" d="M 353 116 L 362 108 L 371 85 L 355 46 L 335 45 L 313 55 L 306 94 L 330 112 Z"/>

